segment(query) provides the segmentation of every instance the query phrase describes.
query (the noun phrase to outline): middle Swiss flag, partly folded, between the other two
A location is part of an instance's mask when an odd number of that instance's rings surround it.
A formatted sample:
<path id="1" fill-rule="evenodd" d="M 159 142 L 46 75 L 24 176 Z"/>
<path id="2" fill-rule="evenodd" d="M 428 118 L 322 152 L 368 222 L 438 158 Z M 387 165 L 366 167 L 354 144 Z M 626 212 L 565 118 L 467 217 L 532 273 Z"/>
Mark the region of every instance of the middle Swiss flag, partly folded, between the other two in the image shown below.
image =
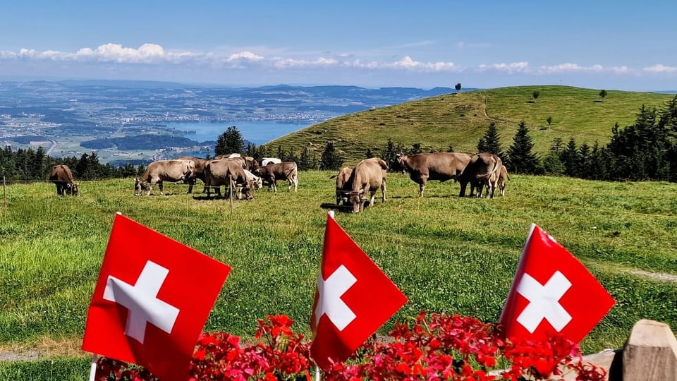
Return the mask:
<path id="1" fill-rule="evenodd" d="M 345 361 L 406 302 L 329 214 L 310 318 L 315 334 L 310 354 L 317 365 Z"/>

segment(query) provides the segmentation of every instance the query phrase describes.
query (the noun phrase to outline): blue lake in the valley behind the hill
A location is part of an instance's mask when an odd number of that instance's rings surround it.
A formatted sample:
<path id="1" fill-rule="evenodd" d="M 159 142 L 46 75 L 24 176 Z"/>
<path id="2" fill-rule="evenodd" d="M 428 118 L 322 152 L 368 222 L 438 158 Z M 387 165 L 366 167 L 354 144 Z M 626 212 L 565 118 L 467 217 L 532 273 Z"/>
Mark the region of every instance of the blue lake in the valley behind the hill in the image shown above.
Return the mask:
<path id="1" fill-rule="evenodd" d="M 207 140 L 219 138 L 226 132 L 228 127 L 236 126 L 244 140 L 249 140 L 255 145 L 262 145 L 288 133 L 293 133 L 311 124 L 276 123 L 274 121 L 233 121 L 224 123 L 194 122 L 194 123 L 169 123 L 167 127 L 179 131 L 195 131 L 187 133 L 185 137 L 202 143 Z"/>

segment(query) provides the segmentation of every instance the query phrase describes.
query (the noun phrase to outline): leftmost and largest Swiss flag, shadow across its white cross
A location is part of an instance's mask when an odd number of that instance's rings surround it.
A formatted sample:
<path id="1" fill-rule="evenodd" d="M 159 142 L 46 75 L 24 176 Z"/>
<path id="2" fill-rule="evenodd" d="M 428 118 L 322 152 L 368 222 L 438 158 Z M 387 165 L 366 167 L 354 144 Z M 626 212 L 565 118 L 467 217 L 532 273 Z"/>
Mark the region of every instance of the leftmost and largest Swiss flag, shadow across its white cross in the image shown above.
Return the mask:
<path id="1" fill-rule="evenodd" d="M 230 267 L 116 214 L 83 350 L 188 379 L 198 336 Z"/>

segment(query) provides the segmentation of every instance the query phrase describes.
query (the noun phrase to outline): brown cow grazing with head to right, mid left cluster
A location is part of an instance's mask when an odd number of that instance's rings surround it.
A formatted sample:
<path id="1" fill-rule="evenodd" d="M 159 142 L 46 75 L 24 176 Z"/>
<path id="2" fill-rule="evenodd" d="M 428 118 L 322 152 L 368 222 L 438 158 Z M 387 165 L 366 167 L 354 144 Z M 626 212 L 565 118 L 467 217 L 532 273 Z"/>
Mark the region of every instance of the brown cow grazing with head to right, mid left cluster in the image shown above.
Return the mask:
<path id="1" fill-rule="evenodd" d="M 226 193 L 230 189 L 238 191 L 238 199 L 242 198 L 242 192 L 245 193 L 245 198 L 251 200 L 254 198 L 252 188 L 254 183 L 247 179 L 245 169 L 240 166 L 240 163 L 235 160 L 218 159 L 210 160 L 205 166 L 205 187 L 207 188 L 207 197 L 209 198 L 209 191 L 214 189 L 217 195 L 221 195 L 221 186 L 226 186 Z"/>

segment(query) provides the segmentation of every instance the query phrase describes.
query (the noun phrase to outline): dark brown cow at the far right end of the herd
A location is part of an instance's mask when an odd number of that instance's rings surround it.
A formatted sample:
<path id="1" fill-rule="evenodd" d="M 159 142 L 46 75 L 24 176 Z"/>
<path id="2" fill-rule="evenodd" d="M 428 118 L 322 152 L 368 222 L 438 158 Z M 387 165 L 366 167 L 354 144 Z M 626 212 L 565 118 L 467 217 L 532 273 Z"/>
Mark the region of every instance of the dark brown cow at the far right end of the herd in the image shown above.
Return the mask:
<path id="1" fill-rule="evenodd" d="M 458 195 L 465 197 L 465 188 L 470 183 L 470 197 L 481 197 L 482 186 L 487 186 L 486 197 L 494 198 L 494 192 L 501 176 L 501 167 L 503 167 L 503 161 L 492 153 L 481 152 L 473 156 L 458 178 L 461 183 L 461 193 Z M 477 187 L 477 193 L 475 193 L 475 187 Z"/>

